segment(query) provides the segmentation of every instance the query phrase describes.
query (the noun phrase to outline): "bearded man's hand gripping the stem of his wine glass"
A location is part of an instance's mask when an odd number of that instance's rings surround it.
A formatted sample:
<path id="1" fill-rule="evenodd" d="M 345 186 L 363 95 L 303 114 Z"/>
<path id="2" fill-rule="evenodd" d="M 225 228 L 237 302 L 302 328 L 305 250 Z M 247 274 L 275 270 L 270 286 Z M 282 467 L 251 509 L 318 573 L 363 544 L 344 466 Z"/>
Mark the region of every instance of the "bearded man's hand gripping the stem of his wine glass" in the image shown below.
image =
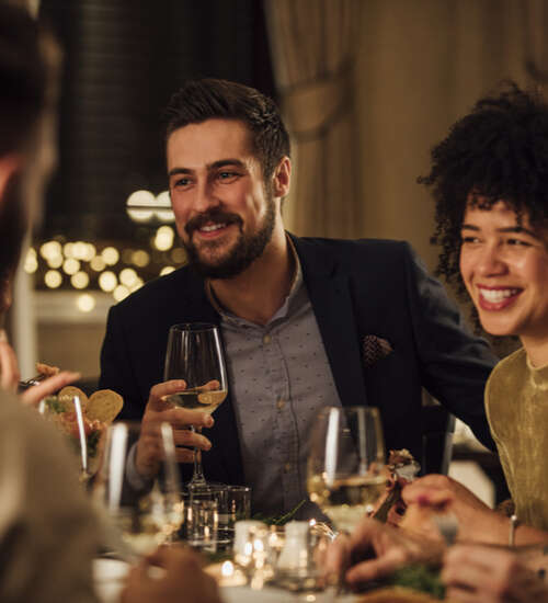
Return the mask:
<path id="1" fill-rule="evenodd" d="M 159 426 L 164 421 L 173 426 L 176 460 L 179 463 L 194 462 L 192 447 L 202 451 L 208 451 L 212 447 L 212 443 L 207 437 L 187 428 L 190 425 L 210 428 L 214 423 L 213 417 L 206 412 L 178 408 L 165 399 L 168 396 L 185 389 L 185 387 L 184 380 L 172 379 L 155 385 L 150 389 L 136 453 L 136 468 L 144 477 L 153 477 L 158 473 L 159 462 L 163 454 Z"/>

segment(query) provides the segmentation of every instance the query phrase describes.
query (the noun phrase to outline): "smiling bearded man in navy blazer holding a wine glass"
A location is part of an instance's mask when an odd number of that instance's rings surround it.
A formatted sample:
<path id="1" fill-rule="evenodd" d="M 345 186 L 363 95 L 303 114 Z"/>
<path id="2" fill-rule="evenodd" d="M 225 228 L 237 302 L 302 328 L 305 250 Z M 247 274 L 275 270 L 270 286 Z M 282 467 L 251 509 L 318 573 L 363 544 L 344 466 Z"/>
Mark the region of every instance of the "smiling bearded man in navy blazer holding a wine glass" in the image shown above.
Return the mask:
<path id="1" fill-rule="evenodd" d="M 275 104 L 206 79 L 187 82 L 167 114 L 169 189 L 190 262 L 111 309 L 102 351 L 101 387 L 124 396 L 125 418 L 150 433 L 137 471 L 153 470 L 153 425 L 167 420 L 180 462 L 193 459 L 185 446 L 209 451 L 208 479 L 247 483 L 255 511 L 281 513 L 307 498 L 308 436 L 322 407 L 379 407 L 387 448 L 420 457 L 421 386 L 489 444 L 482 394 L 494 359 L 409 246 L 285 231 L 292 162 Z M 220 326 L 229 396 L 215 423 L 164 401 L 184 386 L 161 383 L 180 322 Z M 208 437 L 189 424 L 212 428 Z"/>

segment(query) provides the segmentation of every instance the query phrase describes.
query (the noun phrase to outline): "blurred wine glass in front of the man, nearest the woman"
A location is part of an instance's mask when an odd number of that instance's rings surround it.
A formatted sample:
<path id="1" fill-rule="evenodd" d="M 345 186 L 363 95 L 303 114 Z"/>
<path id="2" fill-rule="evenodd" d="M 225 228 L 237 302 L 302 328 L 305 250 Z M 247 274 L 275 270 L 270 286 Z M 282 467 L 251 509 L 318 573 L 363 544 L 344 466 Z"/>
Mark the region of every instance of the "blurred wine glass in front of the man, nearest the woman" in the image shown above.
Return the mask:
<path id="1" fill-rule="evenodd" d="M 380 416 L 373 407 L 327 407 L 317 417 L 308 458 L 310 500 L 339 531 L 351 532 L 386 489 Z"/>

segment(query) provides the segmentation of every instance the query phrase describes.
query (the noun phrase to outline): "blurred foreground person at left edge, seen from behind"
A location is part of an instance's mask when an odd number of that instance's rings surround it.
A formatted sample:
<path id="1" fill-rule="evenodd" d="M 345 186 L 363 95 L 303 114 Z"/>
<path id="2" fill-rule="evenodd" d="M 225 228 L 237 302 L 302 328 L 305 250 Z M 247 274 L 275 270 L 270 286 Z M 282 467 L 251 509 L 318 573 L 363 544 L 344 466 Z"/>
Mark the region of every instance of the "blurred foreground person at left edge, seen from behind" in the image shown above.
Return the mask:
<path id="1" fill-rule="evenodd" d="M 52 71 L 58 55 L 28 14 L 0 3 L 0 314 L 11 303 L 23 236 L 55 163 Z M 5 391 L 19 380 L 7 341 L 0 342 L 0 601 L 95 602 L 91 570 L 99 530 L 72 453 L 57 430 Z M 76 376 L 54 377 L 24 401 Z M 132 573 L 124 602 L 219 602 L 213 579 L 189 551 L 159 551 L 150 562 L 164 567 L 164 578 L 150 581 L 144 564 Z"/>

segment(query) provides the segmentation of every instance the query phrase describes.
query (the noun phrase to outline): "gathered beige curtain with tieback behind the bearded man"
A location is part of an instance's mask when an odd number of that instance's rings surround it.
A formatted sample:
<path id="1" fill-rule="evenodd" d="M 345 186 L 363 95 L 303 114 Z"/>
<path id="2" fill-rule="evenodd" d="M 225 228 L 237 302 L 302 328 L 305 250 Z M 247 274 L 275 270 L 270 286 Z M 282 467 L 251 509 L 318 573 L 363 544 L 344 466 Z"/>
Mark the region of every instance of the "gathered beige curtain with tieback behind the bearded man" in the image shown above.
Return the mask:
<path id="1" fill-rule="evenodd" d="M 359 235 L 353 68 L 359 0 L 264 0 L 274 75 L 293 140 L 286 226 L 300 236 Z"/>

